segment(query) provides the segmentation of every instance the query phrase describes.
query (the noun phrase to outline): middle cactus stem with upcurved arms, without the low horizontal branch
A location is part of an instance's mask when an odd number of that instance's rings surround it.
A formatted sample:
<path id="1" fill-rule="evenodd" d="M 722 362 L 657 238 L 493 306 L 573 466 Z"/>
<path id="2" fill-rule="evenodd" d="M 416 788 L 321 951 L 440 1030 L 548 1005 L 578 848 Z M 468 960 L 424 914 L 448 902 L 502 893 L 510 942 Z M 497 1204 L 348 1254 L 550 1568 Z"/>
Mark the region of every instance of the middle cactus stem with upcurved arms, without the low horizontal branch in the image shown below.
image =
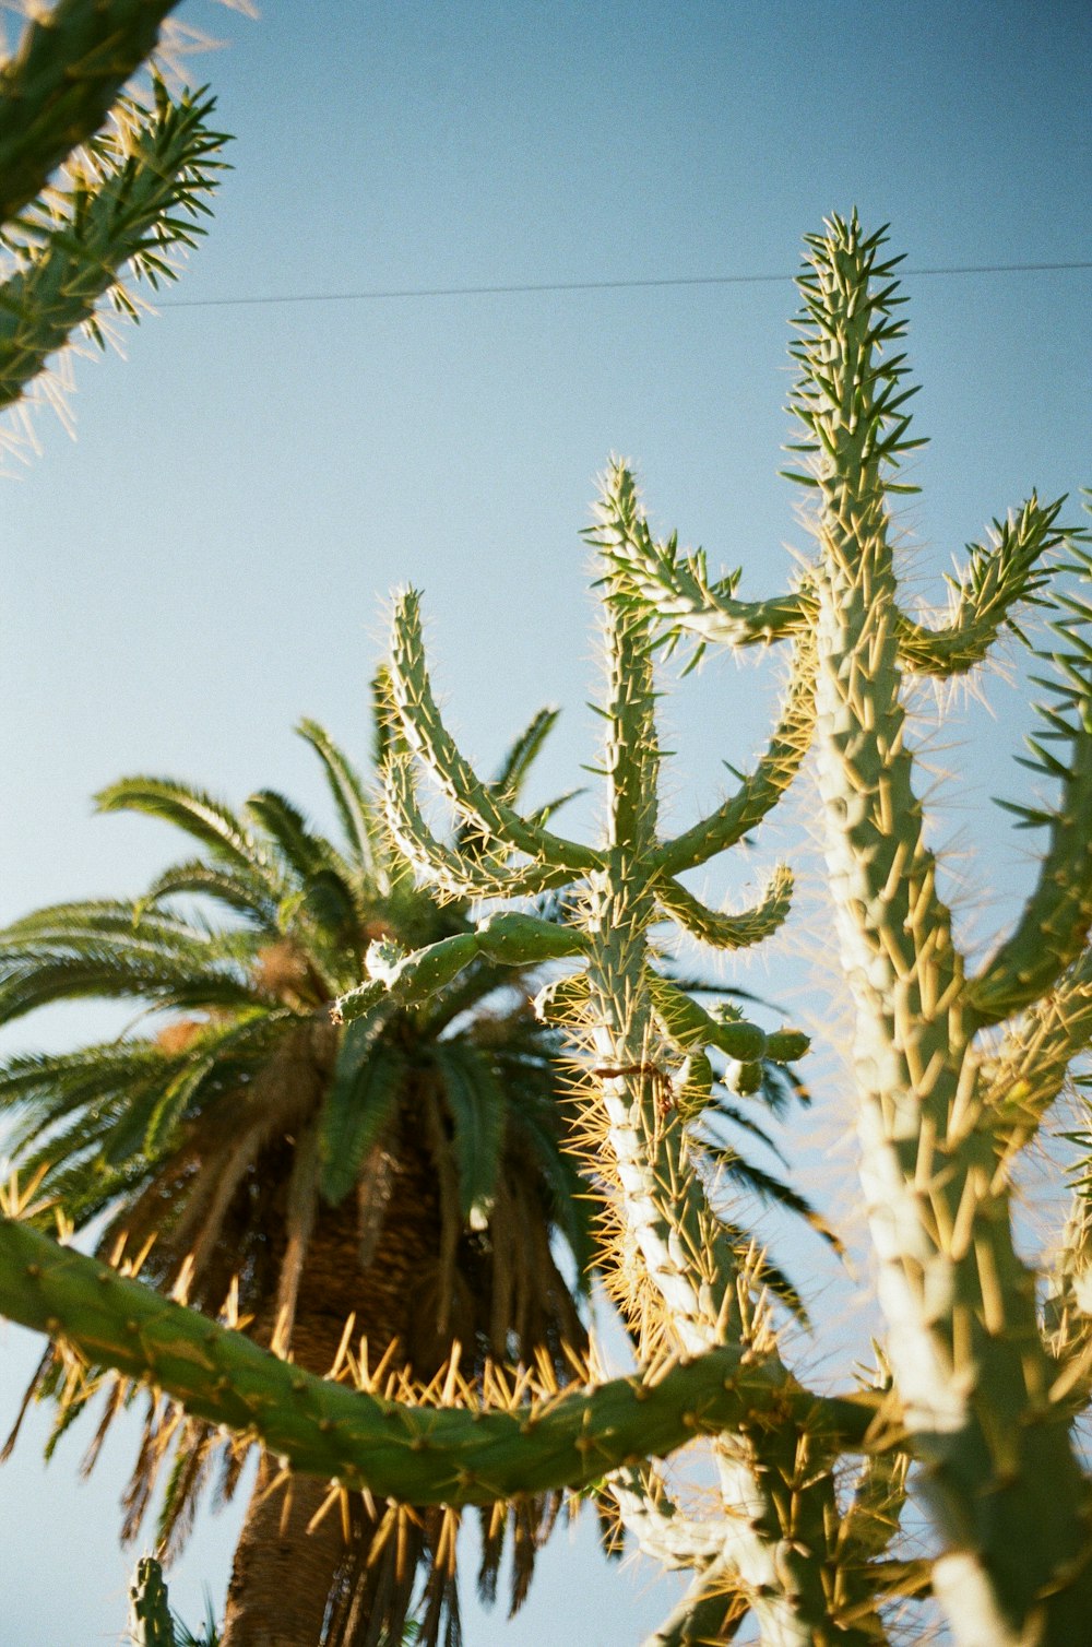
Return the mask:
<path id="1" fill-rule="evenodd" d="M 753 1342 L 744 1303 L 746 1267 L 733 1237 L 707 1204 L 687 1127 L 702 1113 L 712 1090 L 707 1046 L 735 1059 L 738 1087 L 751 1090 L 763 1079 L 764 1057 L 792 1061 L 807 1043 L 786 1031 L 768 1038 L 754 1024 L 716 1021 L 688 1003 L 670 983 L 657 980 L 647 934 L 656 922 L 670 919 L 705 942 L 740 947 L 758 942 L 784 919 L 791 893 L 786 870 L 776 873 L 763 903 L 746 916 L 707 909 L 675 875 L 707 861 L 751 830 L 791 782 L 810 731 L 814 657 L 802 641 L 772 744 L 756 771 L 741 779 L 736 796 L 684 837 L 662 842 L 657 833 L 660 753 L 652 628 L 624 593 L 619 595 L 613 562 L 619 539 L 628 534 L 647 537 L 647 529 L 632 476 L 616 464 L 606 478 L 598 522 L 590 534 L 606 567 L 608 682 L 601 761 L 606 833 L 601 847 L 575 847 L 548 837 L 497 805 L 473 774 L 436 710 L 413 593 L 402 596 L 394 621 L 390 697 L 404 749 L 392 753 L 387 764 L 387 810 L 418 873 L 451 896 L 483 891 L 512 896 L 578 881 L 565 909 L 567 924 L 581 935 L 581 944 L 568 952 L 583 954 L 585 967 L 580 977 L 547 987 L 542 1006 L 553 1016 L 575 1010 L 586 1034 L 595 1080 L 586 1112 L 588 1130 L 596 1135 L 595 1171 L 614 1186 L 611 1215 L 618 1220 L 618 1237 L 609 1263 L 629 1276 L 619 1296 L 631 1311 L 639 1354 L 647 1359 L 660 1341 L 687 1355 L 703 1355 L 718 1344 L 743 1347 Z M 479 833 L 489 856 L 488 870 L 463 870 L 435 840 L 415 799 L 408 751 L 422 761 L 456 815 Z M 511 865 L 511 855 L 524 861 Z M 552 931 L 552 922 L 539 934 L 527 927 L 527 947 L 520 949 L 524 963 L 565 954 L 557 939 L 547 942 Z M 488 940 L 489 927 L 483 926 L 481 932 Z M 542 947 L 537 950 L 539 939 Z M 473 954 L 489 950 L 474 949 Z M 435 963 L 446 968 L 458 959 L 436 954 Z M 433 962 L 427 957 L 395 962 L 390 973 L 395 990 L 402 987 L 400 965 L 425 975 Z M 369 962 L 369 970 L 379 968 Z M 346 998 L 341 1010 L 369 1010 L 376 1000 L 366 985 L 357 1000 Z M 575 1024 L 570 1029 L 580 1033 Z M 772 1354 L 772 1341 L 763 1342 L 763 1354 Z M 721 1435 L 716 1443 L 720 1491 L 733 1543 L 726 1570 L 738 1609 L 754 1611 L 769 1647 L 825 1642 L 832 1627 L 822 1575 L 828 1532 L 835 1525 L 835 1495 L 828 1459 L 822 1461 L 824 1446 L 799 1426 L 781 1433 L 753 1421 L 743 1421 L 738 1435 Z M 805 1456 L 810 1463 L 800 1477 Z M 789 1527 L 799 1530 L 799 1538 L 789 1540 L 786 1555 Z M 840 1639 L 848 1647 L 850 1640 L 863 1642 L 866 1635 L 853 1627 Z"/>

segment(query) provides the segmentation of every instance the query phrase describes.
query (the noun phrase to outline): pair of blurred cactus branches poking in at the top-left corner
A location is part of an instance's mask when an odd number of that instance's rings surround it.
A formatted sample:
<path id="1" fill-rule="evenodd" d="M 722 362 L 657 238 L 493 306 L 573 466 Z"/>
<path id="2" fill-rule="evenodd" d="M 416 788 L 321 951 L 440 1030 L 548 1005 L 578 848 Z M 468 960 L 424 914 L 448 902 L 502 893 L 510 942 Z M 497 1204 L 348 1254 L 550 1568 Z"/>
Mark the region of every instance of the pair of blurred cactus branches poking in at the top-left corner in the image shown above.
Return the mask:
<path id="1" fill-rule="evenodd" d="M 212 100 L 156 77 L 150 100 L 122 96 L 176 3 L 59 0 L 0 69 L 0 408 L 77 333 L 104 346 L 102 298 L 138 320 L 125 280 L 173 278 L 171 250 L 204 232 L 226 142 Z"/>

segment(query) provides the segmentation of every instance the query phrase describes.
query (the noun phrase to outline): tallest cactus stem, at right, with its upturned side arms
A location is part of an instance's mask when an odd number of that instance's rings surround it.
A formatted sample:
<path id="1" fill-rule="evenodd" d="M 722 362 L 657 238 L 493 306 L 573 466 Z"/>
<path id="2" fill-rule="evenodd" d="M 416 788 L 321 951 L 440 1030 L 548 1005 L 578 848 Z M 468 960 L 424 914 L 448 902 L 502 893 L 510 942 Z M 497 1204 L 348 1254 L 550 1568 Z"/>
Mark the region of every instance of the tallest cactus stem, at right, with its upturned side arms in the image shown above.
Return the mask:
<path id="1" fill-rule="evenodd" d="M 703 560 L 674 545 L 631 542 L 619 570 L 639 611 L 698 644 L 740 644 L 748 621 L 771 628 L 771 611 L 781 632 L 817 634 L 817 771 L 856 1013 L 861 1181 L 894 1388 L 942 1542 L 934 1588 L 967 1647 L 1061 1647 L 1082 1639 L 1092 1606 L 1092 1504 L 1072 1435 L 1087 1369 L 1057 1332 L 1044 1341 L 1036 1273 L 1013 1239 L 1011 1168 L 1092 1031 L 1092 608 L 1048 558 L 1067 537 L 1061 504 L 1033 496 L 970 547 L 945 624 L 901 609 L 889 497 L 912 489 L 896 471 L 921 441 L 906 357 L 891 352 L 906 300 L 883 244 L 855 216 L 807 237 L 792 351 L 805 466 L 791 478 L 815 501 L 820 547 L 796 611 L 789 600 L 748 608 L 735 578 L 712 585 Z M 1066 570 L 1087 581 L 1072 534 L 1069 548 Z M 1003 628 L 1021 634 L 1028 603 L 1052 609 L 1054 667 L 1036 677 L 1044 731 L 1026 764 L 1059 796 L 1011 809 L 1046 828 L 1046 850 L 1011 934 L 975 972 L 924 842 L 903 679 L 972 669 Z M 1000 1047 L 982 1034 L 998 1024 Z"/>

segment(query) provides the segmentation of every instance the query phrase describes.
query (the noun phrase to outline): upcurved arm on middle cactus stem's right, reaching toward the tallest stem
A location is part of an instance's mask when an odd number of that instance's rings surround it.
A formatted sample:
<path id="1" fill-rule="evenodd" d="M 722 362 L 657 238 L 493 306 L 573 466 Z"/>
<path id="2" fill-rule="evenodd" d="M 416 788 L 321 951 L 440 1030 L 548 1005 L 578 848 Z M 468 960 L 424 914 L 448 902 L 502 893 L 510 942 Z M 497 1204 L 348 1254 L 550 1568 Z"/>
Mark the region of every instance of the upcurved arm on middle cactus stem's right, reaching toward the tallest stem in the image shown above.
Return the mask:
<path id="1" fill-rule="evenodd" d="M 815 649 L 810 634 L 800 631 L 792 649 L 789 688 L 766 753 L 723 805 L 652 853 L 656 866 L 665 875 L 693 870 L 756 828 L 796 777 L 814 726 Z"/>

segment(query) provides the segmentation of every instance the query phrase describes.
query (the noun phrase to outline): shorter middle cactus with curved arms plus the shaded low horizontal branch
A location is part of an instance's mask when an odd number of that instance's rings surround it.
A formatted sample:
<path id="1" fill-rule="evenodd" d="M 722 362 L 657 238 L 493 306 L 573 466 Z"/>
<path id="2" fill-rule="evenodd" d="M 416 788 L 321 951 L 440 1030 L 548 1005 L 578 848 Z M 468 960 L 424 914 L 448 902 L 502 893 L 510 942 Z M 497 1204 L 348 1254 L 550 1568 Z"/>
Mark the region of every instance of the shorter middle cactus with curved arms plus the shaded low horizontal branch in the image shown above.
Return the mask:
<path id="1" fill-rule="evenodd" d="M 674 1560 L 688 1551 L 695 1584 L 664 1639 L 705 1632 L 720 1609 L 723 1617 L 753 1611 L 763 1640 L 776 1647 L 835 1635 L 856 1647 L 884 1640 L 886 1547 L 875 1525 L 865 1540 L 843 1533 L 833 1467 L 843 1451 L 889 1433 L 884 1403 L 860 1392 L 820 1398 L 797 1383 L 781 1360 L 771 1313 L 756 1298 L 766 1281 L 777 1285 L 776 1271 L 744 1250 L 710 1201 L 707 1123 L 725 1105 L 716 1071 L 746 1097 L 756 1082 L 774 1079 L 771 1071 L 791 1067 L 807 1039 L 791 1029 L 766 1033 L 735 1010 L 705 1010 L 664 975 L 649 944 L 649 929 L 664 921 L 720 947 L 753 944 L 784 921 L 786 870 L 748 914 L 703 906 L 679 876 L 749 833 L 791 782 L 812 731 L 814 649 L 796 649 L 781 720 L 751 774 L 707 819 L 662 840 L 652 624 L 632 614 L 613 572 L 631 537 L 649 542 L 632 476 L 616 464 L 593 534 L 608 568 L 608 830 L 600 847 L 563 840 L 476 777 L 436 710 L 418 601 L 400 601 L 387 684 L 392 835 L 448 896 L 565 893 L 553 916 L 544 906 L 502 909 L 410 952 L 389 939 L 374 942 L 367 980 L 339 1000 L 336 1016 L 371 1019 L 385 1001 L 417 1008 L 481 963 L 562 968 L 540 1003 L 583 1044 L 583 1130 L 596 1178 L 608 1186 L 608 1265 L 639 1374 L 565 1395 L 540 1388 L 530 1398 L 529 1375 L 520 1374 L 484 1398 L 455 1365 L 422 1393 L 408 1383 L 379 1392 L 364 1364 L 346 1362 L 359 1383 L 351 1390 L 310 1377 L 100 1260 L 58 1250 L 18 1219 L 0 1224 L 0 1308 L 59 1337 L 91 1367 L 148 1380 L 194 1418 L 262 1439 L 293 1469 L 329 1477 L 334 1494 L 441 1504 L 456 1515 L 466 1504 L 595 1486 L 626 1467 L 618 1509 L 657 1553 L 662 1514 L 651 1492 L 641 1509 L 642 1484 L 652 1477 L 639 1466 L 708 1435 L 723 1514 L 712 1528 L 675 1542 Z M 456 810 L 458 853 L 425 822 L 415 761 Z M 800 1197 L 791 1204 L 810 1215 Z M 483 1400 L 501 1411 L 483 1410 Z M 664 1494 L 657 1489 L 656 1497 Z M 675 1519 L 675 1532 L 680 1525 Z M 861 1584 L 852 1583 L 861 1571 L 875 1581 L 865 1603 Z"/>

